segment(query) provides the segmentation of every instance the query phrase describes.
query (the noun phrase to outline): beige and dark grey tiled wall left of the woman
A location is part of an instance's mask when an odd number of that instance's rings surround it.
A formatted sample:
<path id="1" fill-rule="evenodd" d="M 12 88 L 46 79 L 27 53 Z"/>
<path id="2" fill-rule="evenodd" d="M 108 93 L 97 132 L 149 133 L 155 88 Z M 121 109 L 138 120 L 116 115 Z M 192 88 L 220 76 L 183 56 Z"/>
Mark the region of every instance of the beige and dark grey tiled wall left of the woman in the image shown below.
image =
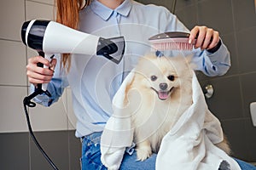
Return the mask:
<path id="1" fill-rule="evenodd" d="M 0 6 L 0 169 L 50 169 L 29 137 L 22 100 L 27 95 L 27 57 L 37 55 L 21 42 L 25 20 L 53 20 L 54 0 L 2 0 Z M 29 109 L 39 143 L 59 169 L 79 169 L 81 144 L 74 137 L 76 120 L 70 90 L 50 108 Z"/>

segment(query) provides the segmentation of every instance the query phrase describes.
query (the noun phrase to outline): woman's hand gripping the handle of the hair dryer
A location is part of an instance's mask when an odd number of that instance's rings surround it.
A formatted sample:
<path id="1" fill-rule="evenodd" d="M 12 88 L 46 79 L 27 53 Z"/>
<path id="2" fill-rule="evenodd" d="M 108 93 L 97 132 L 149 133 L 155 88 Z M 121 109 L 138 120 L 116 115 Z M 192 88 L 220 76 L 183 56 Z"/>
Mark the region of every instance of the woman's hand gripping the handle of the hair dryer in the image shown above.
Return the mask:
<path id="1" fill-rule="evenodd" d="M 48 59 L 44 59 L 44 57 L 41 56 L 28 59 L 28 64 L 26 65 L 28 81 L 35 86 L 37 86 L 38 83 L 48 83 L 53 77 L 56 62 L 56 59 L 52 59 L 49 62 Z M 49 68 L 38 67 L 38 63 L 42 63 Z"/>

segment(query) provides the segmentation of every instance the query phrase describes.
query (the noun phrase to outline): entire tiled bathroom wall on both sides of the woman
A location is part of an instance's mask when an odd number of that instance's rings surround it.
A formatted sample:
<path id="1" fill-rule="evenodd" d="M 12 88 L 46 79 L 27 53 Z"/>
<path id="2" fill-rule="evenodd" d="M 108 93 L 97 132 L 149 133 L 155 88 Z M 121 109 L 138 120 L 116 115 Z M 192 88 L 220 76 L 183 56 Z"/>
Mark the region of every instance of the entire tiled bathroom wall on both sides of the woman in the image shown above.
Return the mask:
<path id="1" fill-rule="evenodd" d="M 172 9 L 173 0 L 143 0 Z M 212 84 L 210 110 L 223 123 L 234 156 L 256 161 L 256 127 L 249 114 L 256 101 L 256 14 L 253 0 L 177 0 L 176 14 L 186 26 L 206 25 L 220 32 L 230 48 L 232 67 L 224 77 L 199 74 L 201 85 Z M 27 56 L 36 55 L 20 40 L 25 20 L 53 19 L 53 0 L 2 0 L 0 6 L 0 169 L 49 169 L 26 127 L 22 99 L 27 95 Z M 67 89 L 60 101 L 30 109 L 39 142 L 60 169 L 79 169 L 80 145 Z"/>

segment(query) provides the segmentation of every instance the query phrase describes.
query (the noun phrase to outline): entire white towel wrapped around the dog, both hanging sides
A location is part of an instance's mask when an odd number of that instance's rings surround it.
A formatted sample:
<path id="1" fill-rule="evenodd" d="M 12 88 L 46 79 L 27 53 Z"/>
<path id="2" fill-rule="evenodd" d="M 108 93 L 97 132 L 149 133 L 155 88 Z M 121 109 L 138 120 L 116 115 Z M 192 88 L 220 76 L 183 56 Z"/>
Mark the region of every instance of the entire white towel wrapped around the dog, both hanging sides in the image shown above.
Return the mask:
<path id="1" fill-rule="evenodd" d="M 133 129 L 131 116 L 125 111 L 125 87 L 134 72 L 125 78 L 113 98 L 113 116 L 102 133 L 102 163 L 108 169 L 119 169 L 125 148 L 131 146 Z M 207 108 L 201 86 L 194 74 L 193 104 L 166 134 L 156 158 L 157 170 L 239 170 L 237 162 L 216 145 L 224 138 L 218 119 Z"/>

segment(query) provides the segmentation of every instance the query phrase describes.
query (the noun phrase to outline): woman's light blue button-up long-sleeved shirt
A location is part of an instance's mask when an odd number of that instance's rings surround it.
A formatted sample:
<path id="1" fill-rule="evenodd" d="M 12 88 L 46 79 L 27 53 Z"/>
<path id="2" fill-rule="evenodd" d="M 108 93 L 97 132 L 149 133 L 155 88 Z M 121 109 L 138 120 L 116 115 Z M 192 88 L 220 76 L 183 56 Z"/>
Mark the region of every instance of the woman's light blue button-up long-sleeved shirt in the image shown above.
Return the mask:
<path id="1" fill-rule="evenodd" d="M 73 111 L 78 120 L 77 137 L 102 131 L 112 114 L 113 95 L 136 65 L 137 59 L 150 52 L 149 37 L 165 31 L 189 32 L 166 8 L 143 5 L 132 0 L 125 0 L 115 9 L 92 1 L 90 6 L 80 12 L 79 30 L 105 38 L 124 36 L 125 55 L 116 65 L 102 56 L 73 54 L 71 69 L 67 74 L 63 74 L 58 66 L 55 69 L 55 76 L 48 86 L 52 97 L 49 99 L 42 95 L 35 99 L 42 105 L 50 105 L 59 99 L 63 88 L 70 86 Z M 175 53 L 164 52 L 166 55 Z M 197 70 L 208 76 L 223 75 L 230 67 L 230 54 L 224 44 L 214 54 L 195 49 L 193 56 Z"/>

